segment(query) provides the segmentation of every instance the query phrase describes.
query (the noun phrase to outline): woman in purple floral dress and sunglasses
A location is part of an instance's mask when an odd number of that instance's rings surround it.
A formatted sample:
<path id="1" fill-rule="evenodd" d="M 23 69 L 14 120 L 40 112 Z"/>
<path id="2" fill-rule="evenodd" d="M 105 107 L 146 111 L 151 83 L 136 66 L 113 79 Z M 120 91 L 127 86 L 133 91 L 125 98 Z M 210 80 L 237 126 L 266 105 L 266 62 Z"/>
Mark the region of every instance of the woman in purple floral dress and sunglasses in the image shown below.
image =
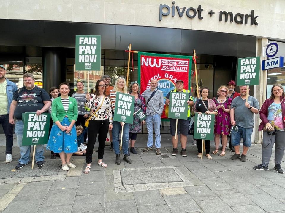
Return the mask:
<path id="1" fill-rule="evenodd" d="M 222 135 L 222 152 L 219 156 L 223 157 L 226 155 L 226 147 L 228 143 L 227 135 L 230 132 L 231 124 L 229 111 L 231 109 L 232 99 L 228 98 L 229 89 L 226 85 L 221 85 L 218 89 L 218 98 L 214 98 L 214 102 L 218 109 L 218 114 L 215 116 L 215 145 L 216 149 L 212 154 L 219 153 L 220 135 Z"/>

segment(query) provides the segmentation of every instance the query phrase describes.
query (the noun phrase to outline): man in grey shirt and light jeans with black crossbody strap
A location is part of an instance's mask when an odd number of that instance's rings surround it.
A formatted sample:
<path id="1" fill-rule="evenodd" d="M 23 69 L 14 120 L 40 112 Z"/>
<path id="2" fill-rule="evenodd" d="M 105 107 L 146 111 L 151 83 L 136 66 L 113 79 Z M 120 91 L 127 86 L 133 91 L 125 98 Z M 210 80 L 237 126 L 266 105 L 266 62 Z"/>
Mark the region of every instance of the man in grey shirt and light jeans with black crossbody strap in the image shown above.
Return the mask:
<path id="1" fill-rule="evenodd" d="M 160 122 L 161 114 L 164 108 L 164 98 L 163 93 L 157 87 L 157 80 L 151 80 L 151 88 L 146 89 L 142 96 L 145 98 L 146 102 L 146 126 L 148 129 L 148 143 L 147 148 L 143 149 L 143 152 L 148 152 L 152 150 L 153 146 L 153 128 L 155 133 L 155 146 L 156 154 L 160 155 Z"/>

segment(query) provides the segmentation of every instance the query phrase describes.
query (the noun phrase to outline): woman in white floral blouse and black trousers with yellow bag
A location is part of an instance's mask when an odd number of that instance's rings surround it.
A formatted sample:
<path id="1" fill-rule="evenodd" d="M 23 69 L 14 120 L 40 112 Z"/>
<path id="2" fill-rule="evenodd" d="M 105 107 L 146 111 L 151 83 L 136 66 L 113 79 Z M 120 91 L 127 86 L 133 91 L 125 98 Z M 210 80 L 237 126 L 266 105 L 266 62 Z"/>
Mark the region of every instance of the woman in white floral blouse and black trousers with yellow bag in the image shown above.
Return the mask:
<path id="1" fill-rule="evenodd" d="M 98 165 L 103 168 L 107 167 L 102 159 L 104 156 L 105 141 L 107 138 L 108 130 L 113 128 L 111 101 L 105 95 L 106 84 L 103 80 L 98 80 L 95 85 L 94 94 L 86 94 L 87 108 L 90 108 L 90 121 L 88 126 L 88 144 L 86 149 L 86 163 L 87 166 L 84 170 L 85 174 L 89 174 L 92 162 L 92 154 L 95 141 L 98 136 Z"/>

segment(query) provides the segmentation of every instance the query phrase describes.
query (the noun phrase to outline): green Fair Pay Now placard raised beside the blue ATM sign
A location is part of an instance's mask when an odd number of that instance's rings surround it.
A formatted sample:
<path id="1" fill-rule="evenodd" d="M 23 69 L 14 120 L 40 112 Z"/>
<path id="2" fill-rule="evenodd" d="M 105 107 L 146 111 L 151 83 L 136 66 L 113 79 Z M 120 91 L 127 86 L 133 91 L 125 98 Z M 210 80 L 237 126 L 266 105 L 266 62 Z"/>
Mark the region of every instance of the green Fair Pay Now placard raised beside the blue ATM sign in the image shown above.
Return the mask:
<path id="1" fill-rule="evenodd" d="M 238 59 L 238 86 L 259 85 L 260 56 Z"/>

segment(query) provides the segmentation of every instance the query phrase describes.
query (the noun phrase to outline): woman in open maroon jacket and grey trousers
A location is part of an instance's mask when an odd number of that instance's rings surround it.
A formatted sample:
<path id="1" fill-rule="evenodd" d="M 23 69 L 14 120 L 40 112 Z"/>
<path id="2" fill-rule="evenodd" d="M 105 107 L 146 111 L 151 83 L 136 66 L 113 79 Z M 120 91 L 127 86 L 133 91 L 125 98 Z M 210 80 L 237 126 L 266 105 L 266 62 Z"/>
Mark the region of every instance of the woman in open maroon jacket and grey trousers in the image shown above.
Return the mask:
<path id="1" fill-rule="evenodd" d="M 263 130 L 262 163 L 253 167 L 255 170 L 268 170 L 272 148 L 275 144 L 274 169 L 284 173 L 281 161 L 285 150 L 285 94 L 281 84 L 271 88 L 271 96 L 262 104 L 259 111 L 261 123 L 259 131 Z"/>

